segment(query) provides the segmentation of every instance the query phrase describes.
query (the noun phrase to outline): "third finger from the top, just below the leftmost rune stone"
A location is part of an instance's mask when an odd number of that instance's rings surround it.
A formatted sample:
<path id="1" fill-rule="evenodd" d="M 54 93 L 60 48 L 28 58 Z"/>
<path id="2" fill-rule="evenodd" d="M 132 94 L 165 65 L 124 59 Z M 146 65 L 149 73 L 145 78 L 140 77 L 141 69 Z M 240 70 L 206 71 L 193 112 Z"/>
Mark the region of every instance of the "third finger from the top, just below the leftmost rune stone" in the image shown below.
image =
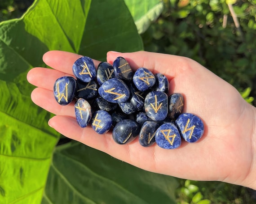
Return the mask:
<path id="1" fill-rule="evenodd" d="M 36 105 L 55 115 L 67 115 L 75 118 L 75 102 L 61 106 L 57 103 L 52 91 L 36 88 L 31 93 L 31 99 Z"/>

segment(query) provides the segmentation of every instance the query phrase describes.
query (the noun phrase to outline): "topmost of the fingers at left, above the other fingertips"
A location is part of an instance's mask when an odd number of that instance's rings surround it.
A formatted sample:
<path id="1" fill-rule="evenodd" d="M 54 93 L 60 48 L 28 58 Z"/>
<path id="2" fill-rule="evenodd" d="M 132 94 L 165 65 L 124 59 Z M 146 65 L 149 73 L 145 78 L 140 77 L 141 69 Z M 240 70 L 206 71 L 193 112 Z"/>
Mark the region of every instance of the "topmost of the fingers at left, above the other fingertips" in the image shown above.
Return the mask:
<path id="1" fill-rule="evenodd" d="M 49 51 L 44 54 L 43 61 L 49 67 L 72 75 L 72 66 L 75 60 L 79 59 L 82 56 L 83 55 L 78 55 L 66 51 Z M 100 61 L 93 59 L 93 63 L 97 68 Z"/>

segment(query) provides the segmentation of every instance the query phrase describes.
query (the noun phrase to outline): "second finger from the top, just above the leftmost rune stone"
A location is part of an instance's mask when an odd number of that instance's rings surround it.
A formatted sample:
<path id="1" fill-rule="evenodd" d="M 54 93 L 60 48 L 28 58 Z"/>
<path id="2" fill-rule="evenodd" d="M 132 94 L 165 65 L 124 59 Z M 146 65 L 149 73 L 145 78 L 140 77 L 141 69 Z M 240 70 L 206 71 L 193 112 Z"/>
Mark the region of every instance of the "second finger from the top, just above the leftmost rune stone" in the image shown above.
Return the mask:
<path id="1" fill-rule="evenodd" d="M 33 68 L 27 73 L 27 81 L 43 89 L 53 90 L 55 81 L 62 76 L 72 76 L 64 72 L 49 68 Z"/>

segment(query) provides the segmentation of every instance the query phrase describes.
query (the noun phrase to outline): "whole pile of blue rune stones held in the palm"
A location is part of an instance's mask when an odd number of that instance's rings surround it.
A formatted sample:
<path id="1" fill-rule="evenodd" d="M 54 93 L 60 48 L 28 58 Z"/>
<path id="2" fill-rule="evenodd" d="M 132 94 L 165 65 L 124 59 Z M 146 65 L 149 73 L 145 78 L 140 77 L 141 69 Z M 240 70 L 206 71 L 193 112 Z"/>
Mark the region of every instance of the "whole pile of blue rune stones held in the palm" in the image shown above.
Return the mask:
<path id="1" fill-rule="evenodd" d="M 139 136 L 142 146 L 156 143 L 164 149 L 178 148 L 181 138 L 193 143 L 203 135 L 202 120 L 182 113 L 183 95 L 168 96 L 169 82 L 161 73 L 154 75 L 147 68 L 133 72 L 123 57 L 116 58 L 113 65 L 102 62 L 96 69 L 87 56 L 75 61 L 73 73 L 76 79 L 58 78 L 53 93 L 60 105 L 76 100 L 80 127 L 90 123 L 98 134 L 112 130 L 118 144 Z"/>

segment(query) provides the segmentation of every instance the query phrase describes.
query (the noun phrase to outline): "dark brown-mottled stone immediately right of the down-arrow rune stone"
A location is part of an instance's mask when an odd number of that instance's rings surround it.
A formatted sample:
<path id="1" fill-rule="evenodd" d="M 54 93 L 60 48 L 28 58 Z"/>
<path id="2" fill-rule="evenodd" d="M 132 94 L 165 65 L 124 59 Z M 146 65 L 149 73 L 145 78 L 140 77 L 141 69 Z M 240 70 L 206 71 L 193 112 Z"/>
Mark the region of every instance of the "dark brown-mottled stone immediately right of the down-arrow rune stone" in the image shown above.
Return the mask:
<path id="1" fill-rule="evenodd" d="M 181 93 L 173 93 L 168 97 L 168 104 L 168 117 L 171 119 L 177 119 L 177 117 L 181 115 L 183 110 L 183 95 Z"/>

